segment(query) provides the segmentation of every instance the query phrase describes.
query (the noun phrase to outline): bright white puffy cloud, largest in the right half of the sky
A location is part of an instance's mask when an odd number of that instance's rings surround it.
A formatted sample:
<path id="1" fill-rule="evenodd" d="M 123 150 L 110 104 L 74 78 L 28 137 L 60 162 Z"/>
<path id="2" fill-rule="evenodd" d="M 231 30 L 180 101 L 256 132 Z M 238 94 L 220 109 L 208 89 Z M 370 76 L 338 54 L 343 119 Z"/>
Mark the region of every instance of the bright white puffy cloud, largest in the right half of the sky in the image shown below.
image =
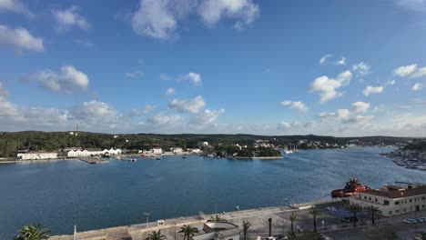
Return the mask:
<path id="1" fill-rule="evenodd" d="M 309 85 L 309 92 L 320 92 L 320 103 L 325 103 L 341 95 L 338 89 L 350 84 L 352 74 L 346 71 L 338 75 L 336 79 L 328 76 L 320 76 Z"/>

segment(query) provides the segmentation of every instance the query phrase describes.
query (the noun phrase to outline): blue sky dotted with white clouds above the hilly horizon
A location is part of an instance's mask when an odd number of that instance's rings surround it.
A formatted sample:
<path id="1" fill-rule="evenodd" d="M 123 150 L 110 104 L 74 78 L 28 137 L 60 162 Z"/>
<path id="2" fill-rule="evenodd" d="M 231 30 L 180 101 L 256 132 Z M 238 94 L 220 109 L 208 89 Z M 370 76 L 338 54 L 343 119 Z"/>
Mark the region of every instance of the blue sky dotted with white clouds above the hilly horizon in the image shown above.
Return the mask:
<path id="1" fill-rule="evenodd" d="M 0 130 L 426 132 L 426 0 L 0 0 Z"/>

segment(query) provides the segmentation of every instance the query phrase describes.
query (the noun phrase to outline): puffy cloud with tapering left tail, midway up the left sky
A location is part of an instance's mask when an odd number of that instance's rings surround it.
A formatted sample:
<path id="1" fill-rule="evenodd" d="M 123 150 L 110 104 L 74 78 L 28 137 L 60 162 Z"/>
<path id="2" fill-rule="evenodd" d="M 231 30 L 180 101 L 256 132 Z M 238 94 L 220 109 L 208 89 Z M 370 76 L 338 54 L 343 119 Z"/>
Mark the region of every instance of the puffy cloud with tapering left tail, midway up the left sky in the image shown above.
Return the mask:
<path id="1" fill-rule="evenodd" d="M 45 70 L 36 75 L 29 76 L 28 80 L 40 82 L 47 90 L 54 92 L 64 91 L 68 94 L 79 90 L 86 90 L 89 85 L 87 75 L 78 71 L 73 65 L 62 66 L 60 73 Z"/>

